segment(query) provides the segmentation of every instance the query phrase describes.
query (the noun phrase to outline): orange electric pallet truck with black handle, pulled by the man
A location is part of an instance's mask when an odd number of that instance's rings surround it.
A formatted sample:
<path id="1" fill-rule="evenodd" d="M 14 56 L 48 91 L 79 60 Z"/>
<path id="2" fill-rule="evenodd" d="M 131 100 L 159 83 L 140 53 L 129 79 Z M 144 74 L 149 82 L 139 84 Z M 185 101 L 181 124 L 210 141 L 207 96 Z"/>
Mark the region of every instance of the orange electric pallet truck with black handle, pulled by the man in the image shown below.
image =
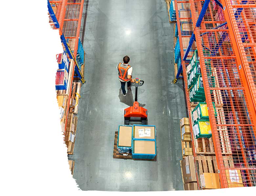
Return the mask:
<path id="1" fill-rule="evenodd" d="M 144 84 L 143 80 L 136 78 L 135 82 L 131 83 L 132 86 L 135 86 L 135 102 L 133 106 L 127 107 L 124 109 L 124 124 L 133 125 L 136 124 L 148 124 L 148 110 L 139 106 L 138 102 L 138 87 Z"/>

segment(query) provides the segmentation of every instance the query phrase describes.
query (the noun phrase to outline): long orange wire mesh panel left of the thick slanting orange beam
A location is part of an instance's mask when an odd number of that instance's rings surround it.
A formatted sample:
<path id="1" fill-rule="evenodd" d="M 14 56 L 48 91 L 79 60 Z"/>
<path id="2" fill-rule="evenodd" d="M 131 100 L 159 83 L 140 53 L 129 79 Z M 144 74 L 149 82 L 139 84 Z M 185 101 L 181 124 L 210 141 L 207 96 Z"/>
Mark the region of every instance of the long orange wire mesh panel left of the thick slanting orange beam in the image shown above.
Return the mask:
<path id="1" fill-rule="evenodd" d="M 204 1 L 190 0 L 190 3 L 195 24 Z M 210 2 L 201 26 L 194 31 L 221 187 L 256 186 L 251 153 L 255 127 L 224 22 L 223 10 Z"/>

